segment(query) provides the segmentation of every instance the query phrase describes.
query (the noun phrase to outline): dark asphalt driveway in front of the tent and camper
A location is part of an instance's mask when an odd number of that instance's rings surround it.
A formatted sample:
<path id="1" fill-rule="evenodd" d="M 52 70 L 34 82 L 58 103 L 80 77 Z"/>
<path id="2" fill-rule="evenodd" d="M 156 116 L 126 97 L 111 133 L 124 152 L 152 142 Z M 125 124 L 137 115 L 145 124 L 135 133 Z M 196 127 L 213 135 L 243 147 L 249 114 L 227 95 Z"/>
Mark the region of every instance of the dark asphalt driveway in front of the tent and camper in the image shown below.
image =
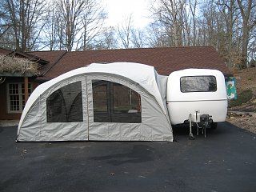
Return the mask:
<path id="1" fill-rule="evenodd" d="M 256 191 L 256 134 L 228 122 L 178 142 L 18 142 L 0 127 L 0 191 Z"/>

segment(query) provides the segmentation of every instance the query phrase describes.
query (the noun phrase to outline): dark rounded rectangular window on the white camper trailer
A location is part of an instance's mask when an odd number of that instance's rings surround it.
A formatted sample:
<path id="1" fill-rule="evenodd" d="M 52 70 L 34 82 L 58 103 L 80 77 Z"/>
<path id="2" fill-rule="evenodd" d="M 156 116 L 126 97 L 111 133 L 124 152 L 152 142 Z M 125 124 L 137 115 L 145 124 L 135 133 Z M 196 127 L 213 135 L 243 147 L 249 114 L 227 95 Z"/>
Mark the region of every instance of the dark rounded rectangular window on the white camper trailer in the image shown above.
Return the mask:
<path id="1" fill-rule="evenodd" d="M 181 78 L 181 91 L 187 92 L 214 92 L 217 82 L 214 76 L 187 76 Z"/>

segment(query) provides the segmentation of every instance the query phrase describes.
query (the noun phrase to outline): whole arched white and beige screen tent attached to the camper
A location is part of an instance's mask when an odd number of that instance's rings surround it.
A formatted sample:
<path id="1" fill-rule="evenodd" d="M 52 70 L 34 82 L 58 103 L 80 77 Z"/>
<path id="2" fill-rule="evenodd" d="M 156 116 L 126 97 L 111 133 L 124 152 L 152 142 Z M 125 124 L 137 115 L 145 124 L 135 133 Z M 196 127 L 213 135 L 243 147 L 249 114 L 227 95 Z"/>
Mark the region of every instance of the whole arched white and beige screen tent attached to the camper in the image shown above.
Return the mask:
<path id="1" fill-rule="evenodd" d="M 17 141 L 173 141 L 166 82 L 138 63 L 72 70 L 33 91 Z"/>

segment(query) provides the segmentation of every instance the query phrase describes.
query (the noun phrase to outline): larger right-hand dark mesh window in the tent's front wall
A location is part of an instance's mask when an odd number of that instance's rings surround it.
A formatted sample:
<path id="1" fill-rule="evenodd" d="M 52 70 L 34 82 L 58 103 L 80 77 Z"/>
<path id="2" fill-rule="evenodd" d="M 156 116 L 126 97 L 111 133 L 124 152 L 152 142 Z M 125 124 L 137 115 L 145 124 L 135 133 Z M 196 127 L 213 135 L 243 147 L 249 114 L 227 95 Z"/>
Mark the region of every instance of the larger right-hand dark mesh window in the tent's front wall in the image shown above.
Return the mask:
<path id="1" fill-rule="evenodd" d="M 115 82 L 93 81 L 94 122 L 142 122 L 140 95 Z"/>

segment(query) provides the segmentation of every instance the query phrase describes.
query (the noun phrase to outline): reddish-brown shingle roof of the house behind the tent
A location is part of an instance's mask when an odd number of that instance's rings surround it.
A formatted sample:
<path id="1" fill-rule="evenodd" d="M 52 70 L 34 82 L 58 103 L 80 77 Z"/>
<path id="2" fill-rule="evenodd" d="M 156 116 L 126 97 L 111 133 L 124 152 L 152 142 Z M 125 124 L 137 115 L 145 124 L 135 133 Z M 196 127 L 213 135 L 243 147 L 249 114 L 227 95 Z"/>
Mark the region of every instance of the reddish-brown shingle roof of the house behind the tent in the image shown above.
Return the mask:
<path id="1" fill-rule="evenodd" d="M 53 52 L 37 52 L 49 61 Z M 39 56 L 39 55 L 38 55 Z M 55 78 L 67 71 L 86 66 L 92 62 L 139 62 L 154 66 L 158 74 L 168 75 L 174 70 L 186 68 L 205 68 L 221 70 L 230 74 L 224 61 L 214 47 L 168 47 L 126 50 L 88 50 L 67 52 L 41 79 Z M 39 78 L 40 79 L 40 78 Z"/>

